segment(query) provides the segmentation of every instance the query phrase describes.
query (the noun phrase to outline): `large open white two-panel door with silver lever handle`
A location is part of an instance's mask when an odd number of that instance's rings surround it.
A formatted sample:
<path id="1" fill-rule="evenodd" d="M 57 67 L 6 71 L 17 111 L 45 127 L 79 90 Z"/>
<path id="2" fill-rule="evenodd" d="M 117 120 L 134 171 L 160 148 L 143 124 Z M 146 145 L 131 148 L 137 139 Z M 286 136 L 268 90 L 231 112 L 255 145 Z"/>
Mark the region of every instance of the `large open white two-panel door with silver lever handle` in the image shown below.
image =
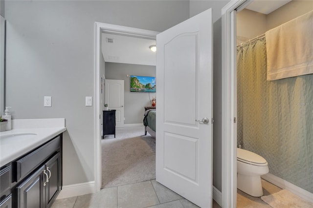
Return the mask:
<path id="1" fill-rule="evenodd" d="M 156 35 L 156 181 L 202 208 L 212 206 L 212 41 L 211 9 Z"/>

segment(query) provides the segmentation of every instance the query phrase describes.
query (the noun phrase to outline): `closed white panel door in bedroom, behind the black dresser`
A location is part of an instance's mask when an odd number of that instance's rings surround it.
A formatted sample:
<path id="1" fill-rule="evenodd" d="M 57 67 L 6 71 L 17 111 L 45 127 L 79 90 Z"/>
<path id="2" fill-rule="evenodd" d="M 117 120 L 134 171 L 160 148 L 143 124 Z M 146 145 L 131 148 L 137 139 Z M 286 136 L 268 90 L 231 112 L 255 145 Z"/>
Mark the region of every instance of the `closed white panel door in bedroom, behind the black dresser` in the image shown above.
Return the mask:
<path id="1" fill-rule="evenodd" d="M 124 126 L 124 80 L 107 80 L 105 102 L 110 110 L 116 110 L 116 127 Z"/>

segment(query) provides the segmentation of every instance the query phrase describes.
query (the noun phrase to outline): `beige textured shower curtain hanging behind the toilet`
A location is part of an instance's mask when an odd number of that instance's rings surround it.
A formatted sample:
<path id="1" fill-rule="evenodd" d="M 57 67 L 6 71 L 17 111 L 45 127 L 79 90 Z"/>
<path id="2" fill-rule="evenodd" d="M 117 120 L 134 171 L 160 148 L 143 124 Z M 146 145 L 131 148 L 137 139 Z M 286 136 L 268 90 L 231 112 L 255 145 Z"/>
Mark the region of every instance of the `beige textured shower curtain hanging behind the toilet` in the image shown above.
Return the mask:
<path id="1" fill-rule="evenodd" d="M 267 81 L 265 38 L 237 46 L 237 144 L 313 193 L 313 74 Z"/>

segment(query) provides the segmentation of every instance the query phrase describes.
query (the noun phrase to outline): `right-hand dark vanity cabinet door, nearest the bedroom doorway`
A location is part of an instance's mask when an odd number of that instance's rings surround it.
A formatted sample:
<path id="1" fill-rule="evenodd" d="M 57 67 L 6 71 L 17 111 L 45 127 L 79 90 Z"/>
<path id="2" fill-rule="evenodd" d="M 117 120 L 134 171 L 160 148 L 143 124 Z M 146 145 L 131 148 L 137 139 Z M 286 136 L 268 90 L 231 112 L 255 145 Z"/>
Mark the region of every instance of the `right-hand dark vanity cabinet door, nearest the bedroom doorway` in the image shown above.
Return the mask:
<path id="1" fill-rule="evenodd" d="M 46 183 L 46 203 L 51 207 L 54 199 L 61 190 L 61 154 L 57 153 L 46 164 L 45 169 L 49 175 L 49 182 Z"/>

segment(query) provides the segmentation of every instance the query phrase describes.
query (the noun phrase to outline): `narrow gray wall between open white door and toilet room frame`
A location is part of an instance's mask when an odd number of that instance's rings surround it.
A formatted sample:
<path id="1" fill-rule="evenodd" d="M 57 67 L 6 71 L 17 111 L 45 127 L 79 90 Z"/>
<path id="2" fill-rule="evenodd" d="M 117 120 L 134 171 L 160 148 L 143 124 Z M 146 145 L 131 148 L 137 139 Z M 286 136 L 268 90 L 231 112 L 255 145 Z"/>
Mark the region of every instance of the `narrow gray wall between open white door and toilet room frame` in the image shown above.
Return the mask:
<path id="1" fill-rule="evenodd" d="M 190 17 L 212 8 L 213 21 L 213 186 L 222 191 L 222 8 L 229 0 L 191 0 Z"/>

